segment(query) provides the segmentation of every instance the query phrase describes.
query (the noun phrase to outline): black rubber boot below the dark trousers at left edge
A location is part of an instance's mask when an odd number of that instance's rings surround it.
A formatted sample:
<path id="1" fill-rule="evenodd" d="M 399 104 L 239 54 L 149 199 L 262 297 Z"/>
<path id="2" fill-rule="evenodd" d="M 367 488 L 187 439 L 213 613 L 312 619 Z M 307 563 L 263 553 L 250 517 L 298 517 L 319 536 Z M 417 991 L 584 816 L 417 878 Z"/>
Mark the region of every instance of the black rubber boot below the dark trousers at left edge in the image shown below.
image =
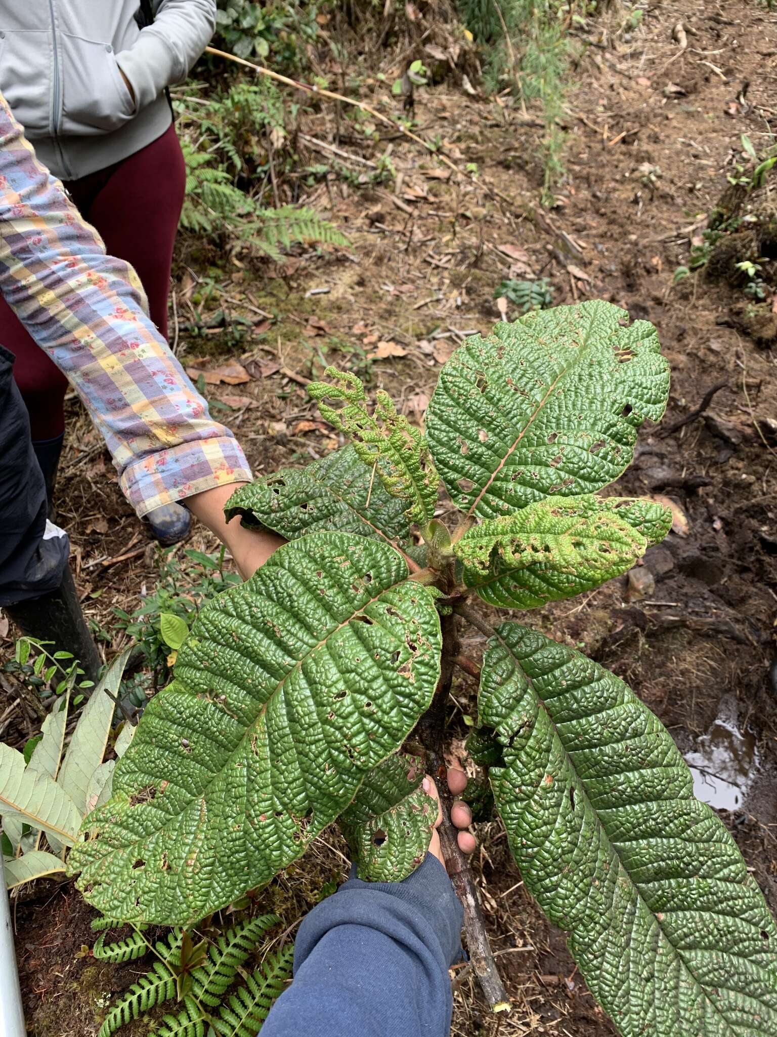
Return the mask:
<path id="1" fill-rule="evenodd" d="M 89 680 L 96 684 L 103 661 L 86 625 L 69 568 L 56 590 L 4 607 L 22 634 L 53 641 L 50 651 L 71 651 Z"/>

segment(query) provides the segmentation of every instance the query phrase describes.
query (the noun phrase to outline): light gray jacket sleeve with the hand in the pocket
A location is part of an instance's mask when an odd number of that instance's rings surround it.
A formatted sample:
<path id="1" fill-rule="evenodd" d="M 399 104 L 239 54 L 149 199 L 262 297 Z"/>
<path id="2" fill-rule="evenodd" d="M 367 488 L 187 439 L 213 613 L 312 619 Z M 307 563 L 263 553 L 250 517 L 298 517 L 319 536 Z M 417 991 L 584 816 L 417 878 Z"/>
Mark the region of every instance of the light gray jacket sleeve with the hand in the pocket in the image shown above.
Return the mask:
<path id="1" fill-rule="evenodd" d="M 141 33 L 116 63 L 138 110 L 166 86 L 182 83 L 215 30 L 215 0 L 161 0 L 153 25 Z"/>

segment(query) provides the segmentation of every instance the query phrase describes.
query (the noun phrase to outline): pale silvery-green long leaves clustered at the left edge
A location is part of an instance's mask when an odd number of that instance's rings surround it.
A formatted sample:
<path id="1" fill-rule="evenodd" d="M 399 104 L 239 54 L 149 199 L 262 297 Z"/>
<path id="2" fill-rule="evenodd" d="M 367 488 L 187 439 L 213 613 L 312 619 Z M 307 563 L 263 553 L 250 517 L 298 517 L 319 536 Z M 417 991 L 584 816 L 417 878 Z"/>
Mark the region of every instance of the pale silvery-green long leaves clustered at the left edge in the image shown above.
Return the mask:
<path id="1" fill-rule="evenodd" d="M 32 746 L 28 742 L 25 752 L 0 742 L 0 838 L 8 889 L 63 874 L 65 856 L 79 838 L 81 821 L 110 797 L 116 762 L 104 762 L 104 757 L 128 655 L 127 648 L 108 668 L 83 707 L 69 740 L 66 728 L 71 689 L 67 688 L 54 699 L 40 735 Z M 134 734 L 135 728 L 127 725 L 118 733 L 114 745 L 117 758 Z M 44 838 L 48 848 L 41 848 Z"/>

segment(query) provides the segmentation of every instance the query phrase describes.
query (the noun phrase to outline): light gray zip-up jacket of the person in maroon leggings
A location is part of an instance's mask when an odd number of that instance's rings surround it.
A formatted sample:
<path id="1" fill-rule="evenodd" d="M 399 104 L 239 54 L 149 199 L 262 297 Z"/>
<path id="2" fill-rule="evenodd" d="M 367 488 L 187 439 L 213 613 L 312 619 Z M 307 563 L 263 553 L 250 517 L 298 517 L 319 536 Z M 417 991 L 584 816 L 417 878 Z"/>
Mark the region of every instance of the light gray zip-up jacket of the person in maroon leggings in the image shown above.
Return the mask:
<path id="1" fill-rule="evenodd" d="M 181 83 L 215 28 L 215 0 L 0 0 L 0 93 L 60 179 L 120 162 L 170 125 Z M 121 77 L 132 84 L 135 100 Z"/>

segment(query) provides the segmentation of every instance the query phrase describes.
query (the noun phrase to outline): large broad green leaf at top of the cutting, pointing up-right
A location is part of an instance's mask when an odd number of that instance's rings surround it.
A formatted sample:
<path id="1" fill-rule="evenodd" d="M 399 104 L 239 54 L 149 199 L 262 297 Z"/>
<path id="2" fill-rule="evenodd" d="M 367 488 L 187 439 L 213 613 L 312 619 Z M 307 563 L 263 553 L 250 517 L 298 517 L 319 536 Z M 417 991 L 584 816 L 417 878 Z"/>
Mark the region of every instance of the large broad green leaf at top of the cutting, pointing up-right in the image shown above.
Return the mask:
<path id="1" fill-rule="evenodd" d="M 427 437 L 448 491 L 484 518 L 601 489 L 658 421 L 669 368 L 656 329 L 604 302 L 527 313 L 476 335 L 440 371 Z"/>

